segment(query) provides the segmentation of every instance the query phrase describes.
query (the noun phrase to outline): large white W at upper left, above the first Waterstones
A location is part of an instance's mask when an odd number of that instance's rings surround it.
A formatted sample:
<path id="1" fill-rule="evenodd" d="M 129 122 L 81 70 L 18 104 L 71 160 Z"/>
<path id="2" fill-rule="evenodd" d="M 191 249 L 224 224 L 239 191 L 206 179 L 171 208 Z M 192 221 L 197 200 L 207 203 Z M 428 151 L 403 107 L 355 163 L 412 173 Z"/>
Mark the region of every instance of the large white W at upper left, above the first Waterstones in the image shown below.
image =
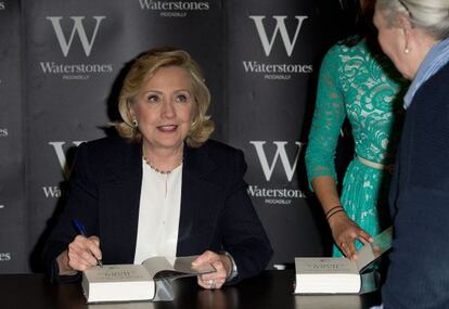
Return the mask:
<path id="1" fill-rule="evenodd" d="M 86 35 L 85 27 L 82 25 L 82 20 L 85 16 L 70 16 L 70 18 L 74 21 L 74 25 L 72 27 L 72 34 L 68 38 L 68 41 L 62 30 L 61 27 L 61 20 L 62 16 L 49 16 L 47 20 L 49 20 L 53 26 L 54 33 L 56 34 L 57 41 L 60 42 L 61 50 L 64 54 L 64 56 L 67 56 L 68 51 L 70 50 L 72 42 L 74 40 L 75 34 L 78 34 L 79 40 L 81 41 L 82 48 L 85 49 L 86 56 L 90 55 L 90 51 L 92 50 L 93 42 L 95 41 L 97 33 L 99 30 L 101 21 L 106 18 L 106 16 L 93 16 L 95 20 L 95 28 L 93 29 L 93 34 L 88 39 L 88 36 Z"/>

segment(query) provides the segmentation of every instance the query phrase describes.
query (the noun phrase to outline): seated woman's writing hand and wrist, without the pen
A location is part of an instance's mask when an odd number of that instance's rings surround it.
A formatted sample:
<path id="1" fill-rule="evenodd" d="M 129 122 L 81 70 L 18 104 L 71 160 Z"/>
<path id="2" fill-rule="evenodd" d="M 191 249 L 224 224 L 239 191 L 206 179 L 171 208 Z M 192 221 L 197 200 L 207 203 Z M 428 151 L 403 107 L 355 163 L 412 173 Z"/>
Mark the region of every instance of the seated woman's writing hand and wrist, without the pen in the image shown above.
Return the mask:
<path id="1" fill-rule="evenodd" d="M 102 259 L 100 239 L 97 236 L 85 237 L 77 235 L 68 248 L 57 258 L 60 274 L 74 274 L 76 271 L 85 271 L 95 266 Z"/>

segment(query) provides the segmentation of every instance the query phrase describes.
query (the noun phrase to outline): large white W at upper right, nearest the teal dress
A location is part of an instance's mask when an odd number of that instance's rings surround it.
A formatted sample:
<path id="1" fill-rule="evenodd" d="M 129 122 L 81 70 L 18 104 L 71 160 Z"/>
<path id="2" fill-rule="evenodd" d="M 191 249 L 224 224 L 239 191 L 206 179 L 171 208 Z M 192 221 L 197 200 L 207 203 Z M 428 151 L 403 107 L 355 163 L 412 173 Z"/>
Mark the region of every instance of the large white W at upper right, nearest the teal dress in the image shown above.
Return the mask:
<path id="1" fill-rule="evenodd" d="M 273 16 L 273 18 L 275 20 L 275 28 L 273 30 L 271 39 L 268 39 L 267 31 L 265 30 L 265 26 L 264 26 L 265 16 L 256 16 L 256 15 L 249 16 L 249 18 L 252 18 L 254 21 L 254 24 L 256 25 L 266 56 L 270 55 L 271 49 L 274 44 L 274 40 L 275 40 L 278 33 L 281 34 L 281 38 L 282 38 L 282 41 L 284 42 L 284 47 L 285 47 L 285 51 L 287 52 L 287 55 L 288 56 L 292 55 L 293 48 L 295 47 L 296 39 L 298 38 L 300 27 L 303 25 L 304 20 L 306 20 L 307 16 L 295 16 L 295 18 L 298 22 L 296 25 L 295 35 L 293 36 L 293 40 L 290 39 L 288 33 L 285 27 L 286 17 L 287 16 L 275 16 L 275 15 Z"/>

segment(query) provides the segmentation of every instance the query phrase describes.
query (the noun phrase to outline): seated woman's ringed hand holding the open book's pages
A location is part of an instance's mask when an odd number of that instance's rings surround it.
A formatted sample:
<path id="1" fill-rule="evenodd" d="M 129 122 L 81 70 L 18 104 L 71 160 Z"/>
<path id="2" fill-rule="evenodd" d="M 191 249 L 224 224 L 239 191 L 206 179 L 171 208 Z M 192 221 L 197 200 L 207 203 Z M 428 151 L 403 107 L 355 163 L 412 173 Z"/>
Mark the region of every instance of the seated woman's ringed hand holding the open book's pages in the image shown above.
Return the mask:
<path id="1" fill-rule="evenodd" d="M 228 274 L 231 272 L 231 259 L 226 255 L 206 250 L 192 262 L 193 266 L 206 263 L 211 265 L 217 271 L 200 274 L 197 276 L 198 285 L 207 289 L 220 288 L 224 284 Z"/>

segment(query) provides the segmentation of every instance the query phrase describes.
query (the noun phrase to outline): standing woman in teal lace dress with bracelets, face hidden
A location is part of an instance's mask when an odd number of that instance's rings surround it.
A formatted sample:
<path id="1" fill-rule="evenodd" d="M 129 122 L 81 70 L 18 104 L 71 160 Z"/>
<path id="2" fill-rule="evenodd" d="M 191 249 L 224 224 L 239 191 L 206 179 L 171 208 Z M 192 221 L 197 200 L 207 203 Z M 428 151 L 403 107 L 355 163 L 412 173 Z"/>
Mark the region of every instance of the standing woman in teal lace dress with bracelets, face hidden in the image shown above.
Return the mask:
<path id="1" fill-rule="evenodd" d="M 320 70 L 306 167 L 335 242 L 333 256 L 357 258 L 357 248 L 388 226 L 385 196 L 401 128 L 405 80 L 382 53 L 373 34 L 371 0 L 356 7 L 355 35 L 336 43 Z M 355 156 L 338 195 L 335 150 L 345 118 Z"/>

